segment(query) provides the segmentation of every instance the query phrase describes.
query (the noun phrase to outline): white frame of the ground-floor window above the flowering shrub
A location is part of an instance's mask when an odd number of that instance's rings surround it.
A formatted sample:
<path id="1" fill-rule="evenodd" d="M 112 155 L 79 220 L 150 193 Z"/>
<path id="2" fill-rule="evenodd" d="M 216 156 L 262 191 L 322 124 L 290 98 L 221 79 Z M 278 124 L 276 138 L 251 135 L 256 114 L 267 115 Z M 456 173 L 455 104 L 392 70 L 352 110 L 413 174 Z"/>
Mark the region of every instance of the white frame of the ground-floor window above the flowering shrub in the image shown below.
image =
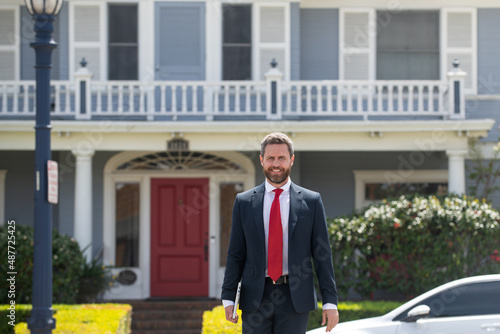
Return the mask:
<path id="1" fill-rule="evenodd" d="M 367 183 L 448 183 L 448 170 L 422 169 L 422 170 L 353 170 L 354 173 L 354 207 L 360 210 L 376 200 L 366 199 Z"/>

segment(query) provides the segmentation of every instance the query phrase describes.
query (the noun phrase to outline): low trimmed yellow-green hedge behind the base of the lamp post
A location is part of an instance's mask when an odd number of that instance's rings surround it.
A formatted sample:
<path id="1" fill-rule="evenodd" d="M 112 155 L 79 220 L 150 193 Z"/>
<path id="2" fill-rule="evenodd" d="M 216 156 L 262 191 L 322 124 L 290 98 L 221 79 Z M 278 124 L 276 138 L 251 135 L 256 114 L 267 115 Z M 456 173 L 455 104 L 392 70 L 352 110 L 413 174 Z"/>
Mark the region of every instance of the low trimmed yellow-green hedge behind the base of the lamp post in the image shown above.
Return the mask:
<path id="1" fill-rule="evenodd" d="M 128 334 L 131 332 L 132 306 L 127 304 L 54 305 L 54 334 Z M 31 305 L 16 305 L 15 327 L 1 322 L 1 334 L 29 334 L 26 320 Z M 7 305 L 2 305 L 0 317 L 8 319 Z M 5 326 L 6 325 L 6 326 Z"/>

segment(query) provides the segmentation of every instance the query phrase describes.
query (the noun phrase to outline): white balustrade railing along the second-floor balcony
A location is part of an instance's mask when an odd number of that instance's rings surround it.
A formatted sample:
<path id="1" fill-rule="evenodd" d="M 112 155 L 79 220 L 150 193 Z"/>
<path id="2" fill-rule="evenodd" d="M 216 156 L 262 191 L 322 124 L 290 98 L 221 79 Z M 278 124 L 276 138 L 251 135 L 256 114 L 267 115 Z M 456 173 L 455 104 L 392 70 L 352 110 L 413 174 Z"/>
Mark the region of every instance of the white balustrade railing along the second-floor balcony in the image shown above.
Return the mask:
<path id="1" fill-rule="evenodd" d="M 274 71 L 274 72 L 273 72 Z M 461 72 L 463 73 L 463 72 Z M 464 118 L 463 76 L 448 81 L 52 81 L 60 119 L 234 120 Z M 35 116 L 35 81 L 0 81 L 0 118 Z"/>

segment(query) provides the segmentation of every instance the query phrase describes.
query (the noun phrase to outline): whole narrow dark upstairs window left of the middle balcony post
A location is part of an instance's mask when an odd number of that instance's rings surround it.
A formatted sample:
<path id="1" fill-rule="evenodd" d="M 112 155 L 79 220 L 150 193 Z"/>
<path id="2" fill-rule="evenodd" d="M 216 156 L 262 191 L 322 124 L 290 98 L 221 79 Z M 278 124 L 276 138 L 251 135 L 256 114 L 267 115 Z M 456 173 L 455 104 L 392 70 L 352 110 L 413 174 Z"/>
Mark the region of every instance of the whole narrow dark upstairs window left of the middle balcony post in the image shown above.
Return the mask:
<path id="1" fill-rule="evenodd" d="M 223 6 L 222 79 L 252 79 L 252 7 Z"/>

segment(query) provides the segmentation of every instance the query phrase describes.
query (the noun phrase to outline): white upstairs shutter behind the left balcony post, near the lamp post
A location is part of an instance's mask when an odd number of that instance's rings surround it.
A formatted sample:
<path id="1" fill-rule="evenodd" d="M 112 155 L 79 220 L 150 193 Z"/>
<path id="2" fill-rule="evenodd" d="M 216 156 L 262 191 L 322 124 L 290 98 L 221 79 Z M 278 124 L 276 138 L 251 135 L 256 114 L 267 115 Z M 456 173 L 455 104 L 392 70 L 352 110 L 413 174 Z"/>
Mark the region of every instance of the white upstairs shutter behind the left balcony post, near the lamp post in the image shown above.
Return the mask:
<path id="1" fill-rule="evenodd" d="M 87 61 L 88 69 L 96 80 L 104 79 L 102 76 L 101 60 L 104 48 L 102 47 L 100 5 L 73 6 L 73 73 L 80 68 L 82 58 Z"/>

